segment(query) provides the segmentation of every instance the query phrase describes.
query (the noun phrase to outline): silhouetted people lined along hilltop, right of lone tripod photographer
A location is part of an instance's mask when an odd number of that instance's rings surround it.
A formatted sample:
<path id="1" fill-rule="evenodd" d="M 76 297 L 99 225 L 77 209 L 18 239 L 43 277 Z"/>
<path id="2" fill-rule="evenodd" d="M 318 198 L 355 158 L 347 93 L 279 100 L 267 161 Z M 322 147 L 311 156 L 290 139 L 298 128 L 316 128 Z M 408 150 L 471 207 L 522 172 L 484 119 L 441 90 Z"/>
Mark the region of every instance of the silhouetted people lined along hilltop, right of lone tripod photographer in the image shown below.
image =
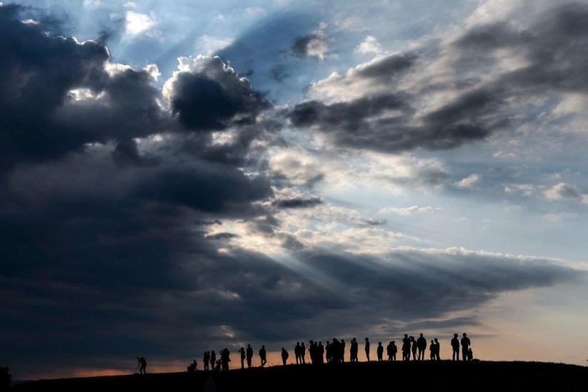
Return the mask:
<path id="1" fill-rule="evenodd" d="M 414 336 L 408 336 L 404 334 L 402 339 L 402 345 L 400 346 L 402 361 L 424 361 L 425 352 L 429 350 L 430 361 L 440 361 L 440 343 L 437 338 L 432 339 L 428 344 L 427 339 L 423 334 L 420 334 L 417 339 Z M 396 361 L 396 354 L 398 354 L 398 346 L 396 341 L 390 341 L 386 347 L 383 346 L 381 341 L 378 341 L 378 347 L 376 349 L 377 361 L 384 361 L 383 354 L 386 349 L 388 361 Z M 458 334 L 453 334 L 451 339 L 451 349 L 453 350 L 453 361 L 460 361 L 460 351 L 462 361 L 473 361 L 473 351 L 471 348 L 470 339 L 468 335 L 463 333 L 461 339 L 458 339 Z M 310 357 L 310 363 L 321 364 L 321 363 L 341 363 L 345 361 L 345 341 L 344 339 L 333 338 L 332 341 L 327 340 L 326 344 L 323 345 L 322 341 L 309 341 L 309 346 L 304 346 L 303 342 L 296 342 L 294 346 L 294 357 L 296 364 L 305 364 L 306 362 L 306 351 L 308 351 Z M 349 347 L 349 361 L 358 362 L 358 351 L 359 344 L 356 338 L 351 339 Z M 365 338 L 364 351 L 366 353 L 366 361 L 370 361 L 370 341 L 369 338 Z M 229 370 L 229 349 L 222 349 L 220 351 L 220 358 L 217 359 L 215 351 L 205 351 L 202 361 L 204 363 L 204 370 L 207 371 L 210 368 L 212 370 Z M 267 363 L 267 351 L 265 346 L 262 346 L 258 351 L 260 366 L 263 368 Z M 247 344 L 247 349 L 241 347 L 239 349 L 239 355 L 241 359 L 241 368 L 247 368 L 252 366 L 253 359 L 253 348 L 250 344 Z M 286 365 L 289 359 L 289 352 L 287 349 L 282 347 L 281 351 L 282 364 Z M 143 357 L 142 357 L 143 358 Z M 143 359 L 144 361 L 144 359 Z M 209 366 L 210 364 L 210 366 Z M 196 370 L 196 361 L 188 366 L 188 371 Z M 144 368 L 142 368 L 142 373 Z"/>

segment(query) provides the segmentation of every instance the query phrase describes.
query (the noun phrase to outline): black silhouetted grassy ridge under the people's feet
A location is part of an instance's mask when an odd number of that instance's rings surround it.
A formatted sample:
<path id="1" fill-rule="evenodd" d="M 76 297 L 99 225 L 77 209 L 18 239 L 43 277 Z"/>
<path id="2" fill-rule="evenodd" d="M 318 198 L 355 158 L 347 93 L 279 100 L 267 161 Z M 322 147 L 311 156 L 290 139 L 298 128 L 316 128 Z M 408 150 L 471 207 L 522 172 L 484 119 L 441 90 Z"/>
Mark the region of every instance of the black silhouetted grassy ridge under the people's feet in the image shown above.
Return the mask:
<path id="1" fill-rule="evenodd" d="M 226 372 L 60 378 L 11 386 L 11 392 L 93 391 L 586 391 L 588 367 L 564 363 L 480 361 L 362 362 L 287 365 Z"/>

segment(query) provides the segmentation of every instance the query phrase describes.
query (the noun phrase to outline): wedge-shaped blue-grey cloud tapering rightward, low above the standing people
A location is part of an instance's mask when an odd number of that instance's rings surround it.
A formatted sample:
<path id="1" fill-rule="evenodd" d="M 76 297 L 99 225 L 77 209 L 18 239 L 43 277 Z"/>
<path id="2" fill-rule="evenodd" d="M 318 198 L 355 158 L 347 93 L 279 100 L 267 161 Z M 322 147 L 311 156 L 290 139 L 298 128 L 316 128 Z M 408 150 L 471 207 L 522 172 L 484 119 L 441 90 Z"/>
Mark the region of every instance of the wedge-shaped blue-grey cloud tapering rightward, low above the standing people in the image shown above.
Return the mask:
<path id="1" fill-rule="evenodd" d="M 403 323 L 439 319 L 452 311 L 476 309 L 503 292 L 549 287 L 583 275 L 545 259 L 450 250 L 398 249 L 384 259 L 326 252 L 297 257 L 345 287 L 349 306 L 369 314 L 373 324 L 380 318 Z"/>

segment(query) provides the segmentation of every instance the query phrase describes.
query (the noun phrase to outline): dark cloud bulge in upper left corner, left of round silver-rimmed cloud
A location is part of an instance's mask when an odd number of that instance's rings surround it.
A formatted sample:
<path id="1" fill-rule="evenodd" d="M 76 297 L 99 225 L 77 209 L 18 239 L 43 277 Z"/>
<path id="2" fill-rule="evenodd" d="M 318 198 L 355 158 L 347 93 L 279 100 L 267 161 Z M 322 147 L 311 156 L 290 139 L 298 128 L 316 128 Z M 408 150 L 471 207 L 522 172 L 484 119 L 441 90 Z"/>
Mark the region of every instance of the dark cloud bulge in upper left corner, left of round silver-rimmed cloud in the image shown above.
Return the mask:
<path id="1" fill-rule="evenodd" d="M 20 12 L 0 9 L 0 170 L 59 159 L 86 143 L 128 143 L 160 126 L 160 92 L 148 71 L 109 75 L 105 46 L 47 34 L 43 24 L 19 21 Z"/>

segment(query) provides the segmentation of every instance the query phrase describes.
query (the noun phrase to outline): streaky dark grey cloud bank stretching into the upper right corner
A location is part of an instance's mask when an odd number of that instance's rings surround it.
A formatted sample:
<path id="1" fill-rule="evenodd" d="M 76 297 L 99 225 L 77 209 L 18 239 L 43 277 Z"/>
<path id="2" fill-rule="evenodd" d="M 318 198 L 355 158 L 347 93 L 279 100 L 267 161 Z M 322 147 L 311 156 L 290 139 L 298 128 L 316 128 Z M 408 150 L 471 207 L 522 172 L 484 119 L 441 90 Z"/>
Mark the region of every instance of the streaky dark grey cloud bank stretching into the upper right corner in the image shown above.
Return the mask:
<path id="1" fill-rule="evenodd" d="M 349 82 L 377 81 L 389 92 L 337 103 L 311 100 L 295 105 L 288 117 L 294 126 L 324 132 L 338 145 L 385 153 L 447 150 L 484 140 L 512 129 L 520 113 L 540 115 L 525 107 L 530 98 L 588 91 L 588 56 L 582 50 L 588 44 L 587 20 L 586 4 L 566 4 L 525 29 L 506 22 L 476 26 L 447 44 L 445 51 L 454 53 L 453 83 L 428 85 L 423 78 L 410 91 L 399 89 L 398 81 L 423 73 L 423 65 L 443 53 L 430 46 L 359 66 L 345 76 Z M 484 81 L 497 68 L 495 51 L 500 49 L 520 54 L 527 65 Z M 421 109 L 428 92 L 454 88 L 456 98 Z"/>

